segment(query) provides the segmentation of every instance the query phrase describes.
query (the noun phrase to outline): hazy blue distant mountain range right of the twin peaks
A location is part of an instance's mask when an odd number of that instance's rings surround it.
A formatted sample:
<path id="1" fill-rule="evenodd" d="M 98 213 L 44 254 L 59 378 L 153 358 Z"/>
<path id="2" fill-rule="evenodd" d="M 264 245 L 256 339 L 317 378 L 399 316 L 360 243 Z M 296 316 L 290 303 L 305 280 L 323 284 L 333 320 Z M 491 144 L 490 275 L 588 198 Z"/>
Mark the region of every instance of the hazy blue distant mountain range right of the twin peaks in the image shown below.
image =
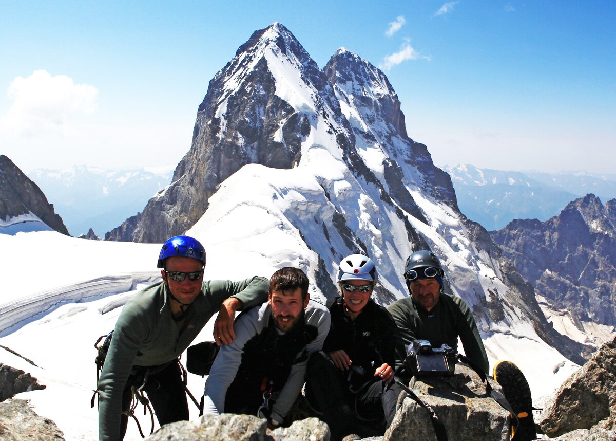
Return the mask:
<path id="1" fill-rule="evenodd" d="M 460 211 L 488 230 L 514 219 L 548 220 L 589 193 L 603 202 L 616 197 L 616 175 L 490 170 L 469 164 L 442 169 L 452 177 Z"/>

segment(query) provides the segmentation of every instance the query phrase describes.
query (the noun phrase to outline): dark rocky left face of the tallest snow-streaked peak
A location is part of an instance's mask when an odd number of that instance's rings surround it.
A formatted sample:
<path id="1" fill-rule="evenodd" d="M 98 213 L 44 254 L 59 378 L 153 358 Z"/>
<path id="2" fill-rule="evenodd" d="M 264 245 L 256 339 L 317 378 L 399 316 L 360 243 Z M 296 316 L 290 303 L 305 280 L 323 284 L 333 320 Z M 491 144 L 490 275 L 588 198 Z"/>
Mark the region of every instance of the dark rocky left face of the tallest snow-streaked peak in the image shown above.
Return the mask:
<path id="1" fill-rule="evenodd" d="M 243 165 L 291 168 L 299 163 L 310 121 L 275 94 L 266 52 L 298 65 L 301 80 L 315 89 L 317 110 L 325 107 L 319 102 L 321 92 L 331 86 L 295 37 L 278 23 L 255 31 L 210 81 L 192 146 L 171 186 L 150 200 L 139 218 L 129 219 L 105 239 L 163 242 L 190 228 L 205 212 L 216 186 Z"/>

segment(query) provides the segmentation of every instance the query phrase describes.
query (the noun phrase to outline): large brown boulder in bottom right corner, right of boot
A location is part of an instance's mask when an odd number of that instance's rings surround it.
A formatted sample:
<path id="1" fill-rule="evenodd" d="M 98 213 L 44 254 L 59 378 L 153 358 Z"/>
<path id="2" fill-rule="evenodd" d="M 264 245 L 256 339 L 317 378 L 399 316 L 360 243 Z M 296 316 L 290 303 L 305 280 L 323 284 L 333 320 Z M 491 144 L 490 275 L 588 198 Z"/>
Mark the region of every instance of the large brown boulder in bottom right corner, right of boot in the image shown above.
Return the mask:
<path id="1" fill-rule="evenodd" d="M 576 429 L 616 431 L 616 337 L 565 381 L 543 411 L 541 429 L 557 437 Z"/>

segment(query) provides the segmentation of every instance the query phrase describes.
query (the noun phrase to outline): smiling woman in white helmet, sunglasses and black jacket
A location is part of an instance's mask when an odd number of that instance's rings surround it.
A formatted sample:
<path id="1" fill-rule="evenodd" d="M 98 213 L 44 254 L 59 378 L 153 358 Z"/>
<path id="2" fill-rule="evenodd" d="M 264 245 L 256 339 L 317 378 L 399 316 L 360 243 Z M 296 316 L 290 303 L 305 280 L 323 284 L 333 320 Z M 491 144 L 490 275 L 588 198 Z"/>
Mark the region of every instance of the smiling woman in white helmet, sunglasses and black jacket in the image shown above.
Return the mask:
<path id="1" fill-rule="evenodd" d="M 377 278 L 371 258 L 342 259 L 336 274 L 341 297 L 330 305 L 330 332 L 323 352 L 310 358 L 306 398 L 330 425 L 333 439 L 385 431 L 381 396 L 394 377 L 397 329 L 387 310 L 371 299 Z M 371 421 L 371 429 L 360 421 Z"/>

